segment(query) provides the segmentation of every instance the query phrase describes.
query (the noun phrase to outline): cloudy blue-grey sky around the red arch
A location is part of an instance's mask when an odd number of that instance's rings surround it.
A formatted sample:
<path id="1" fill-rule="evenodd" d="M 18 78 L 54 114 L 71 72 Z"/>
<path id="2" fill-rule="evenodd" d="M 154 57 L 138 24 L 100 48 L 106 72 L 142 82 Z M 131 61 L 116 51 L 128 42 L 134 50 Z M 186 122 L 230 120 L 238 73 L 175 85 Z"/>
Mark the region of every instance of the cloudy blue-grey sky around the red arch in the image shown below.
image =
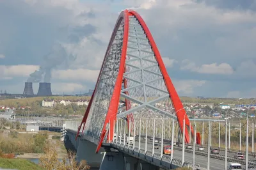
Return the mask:
<path id="1" fill-rule="evenodd" d="M 255 0 L 0 1 L 0 89 L 93 89 L 126 8 L 145 20 L 180 96 L 256 97 Z"/>

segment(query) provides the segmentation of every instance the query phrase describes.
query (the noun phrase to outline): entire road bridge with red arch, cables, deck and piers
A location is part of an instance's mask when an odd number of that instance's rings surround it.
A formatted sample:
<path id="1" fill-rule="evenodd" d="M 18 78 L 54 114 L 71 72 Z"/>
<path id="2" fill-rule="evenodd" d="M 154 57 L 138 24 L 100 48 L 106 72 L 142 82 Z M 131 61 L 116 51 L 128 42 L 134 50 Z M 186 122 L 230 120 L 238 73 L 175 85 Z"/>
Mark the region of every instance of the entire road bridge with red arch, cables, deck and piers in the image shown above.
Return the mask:
<path id="1" fill-rule="evenodd" d="M 205 123 L 210 139 L 211 120 Z M 227 120 L 221 123 L 227 130 Z M 196 123 L 189 121 L 147 25 L 133 10 L 124 10 L 116 21 L 83 120 L 66 121 L 63 132 L 78 161 L 102 170 L 225 169 L 227 162 L 246 164 L 227 147 L 213 154 L 209 139 L 207 151 L 189 149 L 189 144 L 195 148 L 204 141 Z M 167 148 L 170 155 L 165 154 Z"/>

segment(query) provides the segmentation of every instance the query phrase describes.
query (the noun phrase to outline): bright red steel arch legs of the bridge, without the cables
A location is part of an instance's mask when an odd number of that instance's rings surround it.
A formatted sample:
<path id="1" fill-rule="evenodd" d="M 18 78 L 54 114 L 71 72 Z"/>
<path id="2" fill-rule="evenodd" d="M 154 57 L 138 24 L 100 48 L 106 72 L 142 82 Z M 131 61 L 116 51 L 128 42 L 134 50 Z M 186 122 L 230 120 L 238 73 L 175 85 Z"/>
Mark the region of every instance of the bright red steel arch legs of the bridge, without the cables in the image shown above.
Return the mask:
<path id="1" fill-rule="evenodd" d="M 123 12 L 120 13 L 118 20 L 115 25 L 115 29 L 111 35 L 111 39 L 109 41 L 108 49 L 106 50 L 106 54 L 104 56 L 104 61 L 106 60 L 106 56 L 108 54 L 108 50 L 111 47 L 111 44 L 113 43 L 113 39 L 115 38 L 116 31 L 118 27 L 120 26 L 120 23 L 122 20 L 124 20 L 124 38 L 123 38 L 123 43 L 122 43 L 122 53 L 121 53 L 121 58 L 120 58 L 120 68 L 118 70 L 118 75 L 116 77 L 116 82 L 115 82 L 115 88 L 113 89 L 113 95 L 111 97 L 110 103 L 109 103 L 109 108 L 108 112 L 106 114 L 106 119 L 104 121 L 104 126 L 102 128 L 102 132 L 100 135 L 100 140 L 99 144 L 97 146 L 96 153 L 99 151 L 102 141 L 104 140 L 104 136 L 106 135 L 106 125 L 110 122 L 110 132 L 109 132 L 109 139 L 110 141 L 113 139 L 113 129 L 114 129 L 114 124 L 116 120 L 116 114 L 118 112 L 118 103 L 120 100 L 120 93 L 121 93 L 121 88 L 122 88 L 122 82 L 123 82 L 123 75 L 125 72 L 125 59 L 126 59 L 126 52 L 127 52 L 127 43 L 128 43 L 128 36 L 129 36 L 129 15 L 132 15 L 136 17 L 136 19 L 140 22 L 141 27 L 145 31 L 145 34 L 148 38 L 148 41 L 150 42 L 150 45 L 152 47 L 152 50 L 156 56 L 156 61 L 159 64 L 159 68 L 161 70 L 161 73 L 163 74 L 163 79 L 166 84 L 166 88 L 168 89 L 168 92 L 170 94 L 170 98 L 172 100 L 173 107 L 176 111 L 176 116 L 177 116 L 177 121 L 179 122 L 179 127 L 181 132 L 183 132 L 183 120 L 185 118 L 185 123 L 186 123 L 186 128 L 185 128 L 185 142 L 189 143 L 189 132 L 188 132 L 188 127 L 189 127 L 189 119 L 186 114 L 186 111 L 183 109 L 182 102 L 180 101 L 179 95 L 177 94 L 177 91 L 175 90 L 173 83 L 168 75 L 168 72 L 166 71 L 166 68 L 163 63 L 163 59 L 161 58 L 161 55 L 159 53 L 159 50 L 157 49 L 157 45 L 154 42 L 154 38 L 152 37 L 147 25 L 145 24 L 144 20 L 141 18 L 141 16 L 135 12 L 134 10 L 124 10 Z M 103 63 L 102 62 L 102 66 Z M 99 77 L 102 72 L 102 67 L 100 69 Z M 99 77 L 97 80 L 97 84 L 95 86 L 95 89 L 99 83 Z M 81 130 L 81 126 L 86 123 L 86 120 L 88 118 L 88 114 L 90 111 L 90 108 L 92 106 L 92 101 L 94 97 L 95 91 L 93 92 L 92 98 L 90 100 L 90 103 L 88 105 L 88 108 L 86 109 L 86 112 L 84 114 L 83 121 L 81 122 L 81 125 L 79 126 L 79 129 L 77 131 L 77 136 L 79 135 L 79 132 Z M 126 105 L 126 107 L 129 107 L 129 105 Z M 83 127 L 84 128 L 84 127 Z M 193 134 L 193 129 L 191 128 L 191 132 Z"/>

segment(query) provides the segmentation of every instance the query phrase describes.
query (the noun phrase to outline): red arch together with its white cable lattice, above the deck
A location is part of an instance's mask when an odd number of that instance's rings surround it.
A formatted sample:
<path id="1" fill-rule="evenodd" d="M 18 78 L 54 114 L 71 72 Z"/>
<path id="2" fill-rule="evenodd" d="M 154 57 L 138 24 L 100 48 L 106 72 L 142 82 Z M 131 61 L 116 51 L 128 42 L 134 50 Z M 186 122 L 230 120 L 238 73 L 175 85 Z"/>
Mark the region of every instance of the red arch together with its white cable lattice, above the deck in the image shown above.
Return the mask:
<path id="1" fill-rule="evenodd" d="M 113 139 L 116 118 L 124 118 L 132 128 L 134 121 L 156 117 L 174 118 L 180 132 L 185 119 L 185 142 L 189 143 L 189 119 L 156 43 L 141 16 L 124 10 L 116 21 L 77 136 L 81 128 L 98 135 L 99 149 L 106 134 L 109 141 Z"/>

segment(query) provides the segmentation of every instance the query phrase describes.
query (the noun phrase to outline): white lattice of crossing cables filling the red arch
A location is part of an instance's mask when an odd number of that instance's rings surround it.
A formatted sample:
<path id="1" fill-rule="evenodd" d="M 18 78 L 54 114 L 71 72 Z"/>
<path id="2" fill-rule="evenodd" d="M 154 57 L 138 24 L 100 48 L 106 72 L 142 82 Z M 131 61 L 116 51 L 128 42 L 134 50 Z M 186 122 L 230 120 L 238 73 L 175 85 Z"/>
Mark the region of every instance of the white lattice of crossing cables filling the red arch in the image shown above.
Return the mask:
<path id="1" fill-rule="evenodd" d="M 123 35 L 124 20 L 120 22 L 115 40 L 107 53 L 86 121 L 85 130 L 93 134 L 99 135 L 102 132 L 120 67 Z M 134 16 L 129 16 L 129 37 L 123 77 L 117 118 L 133 114 L 136 122 L 145 118 L 177 119 L 156 56 L 145 31 Z M 129 102 L 131 107 L 126 109 L 124 102 Z"/>

